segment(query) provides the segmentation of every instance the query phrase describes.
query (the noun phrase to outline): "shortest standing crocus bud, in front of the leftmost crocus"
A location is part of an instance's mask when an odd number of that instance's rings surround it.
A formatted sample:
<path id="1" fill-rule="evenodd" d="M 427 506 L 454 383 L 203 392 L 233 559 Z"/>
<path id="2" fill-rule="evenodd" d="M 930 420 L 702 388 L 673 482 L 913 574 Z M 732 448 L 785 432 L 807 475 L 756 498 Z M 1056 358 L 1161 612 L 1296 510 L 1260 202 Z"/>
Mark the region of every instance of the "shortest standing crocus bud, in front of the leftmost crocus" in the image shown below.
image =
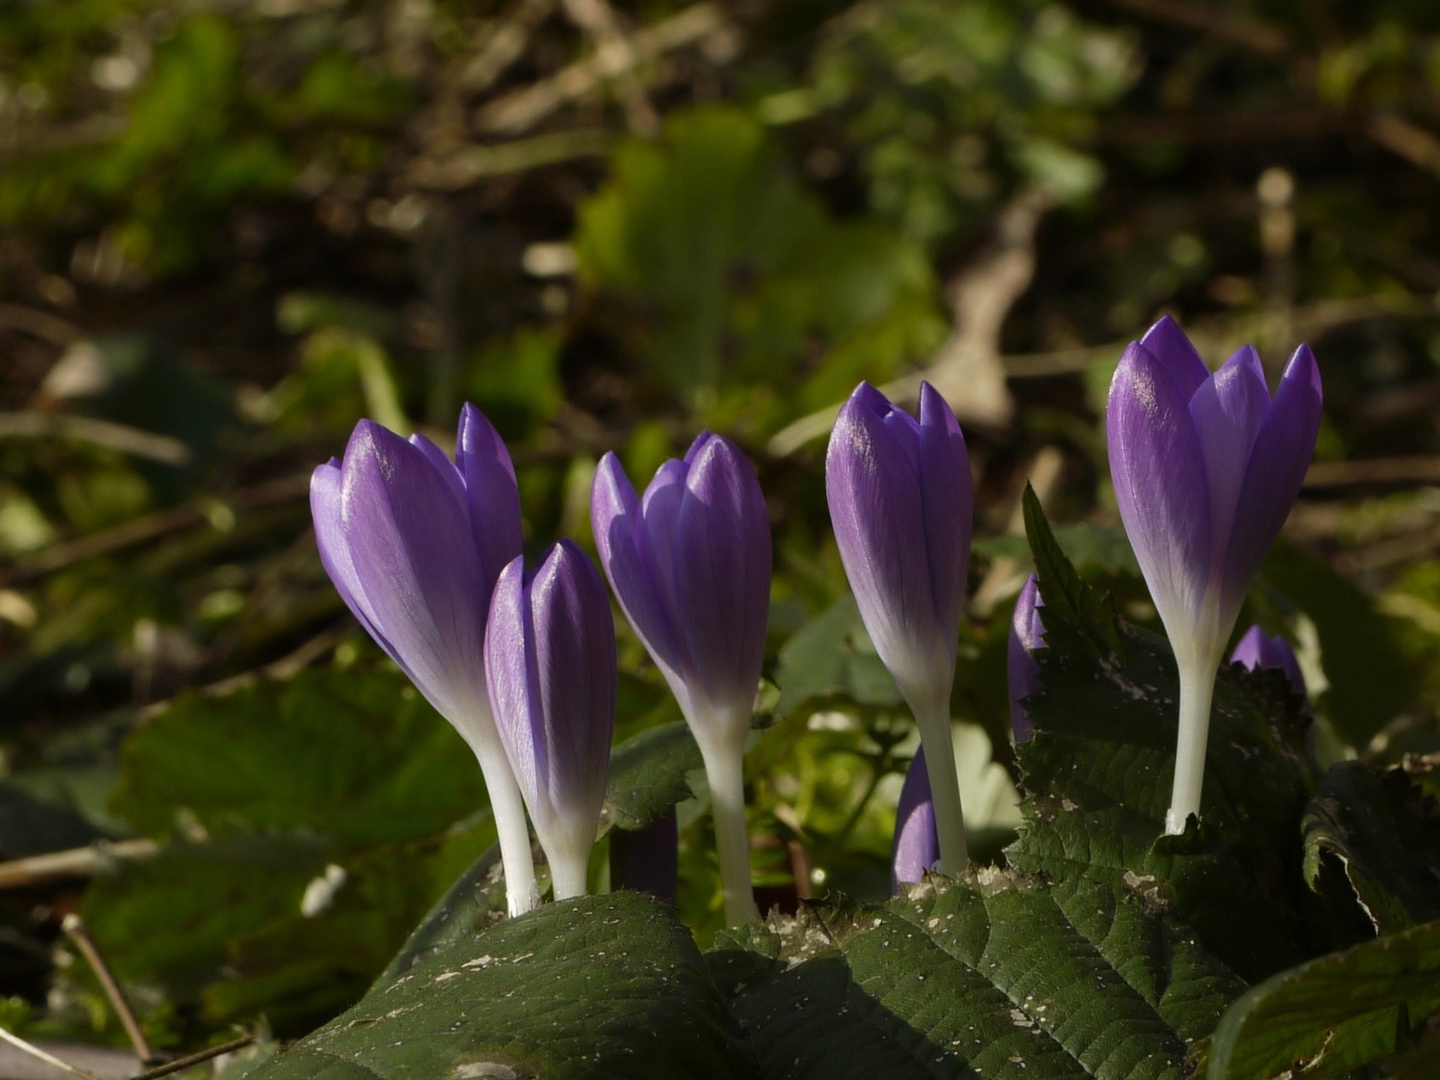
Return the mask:
<path id="1" fill-rule="evenodd" d="M 485 632 L 485 678 L 554 899 L 585 896 L 615 732 L 611 598 L 572 540 L 534 572 L 516 557 L 500 573 Z"/>

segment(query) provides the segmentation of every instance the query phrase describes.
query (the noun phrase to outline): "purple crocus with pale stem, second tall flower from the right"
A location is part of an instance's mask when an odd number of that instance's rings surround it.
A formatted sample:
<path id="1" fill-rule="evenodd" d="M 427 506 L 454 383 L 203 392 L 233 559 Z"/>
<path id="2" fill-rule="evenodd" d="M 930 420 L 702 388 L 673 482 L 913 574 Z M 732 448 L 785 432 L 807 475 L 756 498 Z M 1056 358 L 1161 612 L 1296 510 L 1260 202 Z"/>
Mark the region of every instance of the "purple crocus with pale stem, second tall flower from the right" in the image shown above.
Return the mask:
<path id="1" fill-rule="evenodd" d="M 922 383 L 916 420 L 861 383 L 829 436 L 825 494 L 860 616 L 935 762 L 940 868 L 958 874 L 969 855 L 950 688 L 972 511 L 969 455 L 950 406 Z"/>

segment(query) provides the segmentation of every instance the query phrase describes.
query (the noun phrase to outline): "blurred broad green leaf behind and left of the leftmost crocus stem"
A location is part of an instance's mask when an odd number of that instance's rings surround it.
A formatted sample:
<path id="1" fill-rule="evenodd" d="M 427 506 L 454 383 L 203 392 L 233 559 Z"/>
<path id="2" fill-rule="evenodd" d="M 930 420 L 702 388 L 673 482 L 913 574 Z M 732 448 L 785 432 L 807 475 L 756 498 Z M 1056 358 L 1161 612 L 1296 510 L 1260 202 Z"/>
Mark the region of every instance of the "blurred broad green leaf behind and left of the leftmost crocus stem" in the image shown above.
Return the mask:
<path id="1" fill-rule="evenodd" d="M 311 829 L 347 847 L 432 837 L 485 805 L 474 755 L 397 671 L 315 670 L 186 694 L 125 743 L 114 811 L 150 834 Z"/>

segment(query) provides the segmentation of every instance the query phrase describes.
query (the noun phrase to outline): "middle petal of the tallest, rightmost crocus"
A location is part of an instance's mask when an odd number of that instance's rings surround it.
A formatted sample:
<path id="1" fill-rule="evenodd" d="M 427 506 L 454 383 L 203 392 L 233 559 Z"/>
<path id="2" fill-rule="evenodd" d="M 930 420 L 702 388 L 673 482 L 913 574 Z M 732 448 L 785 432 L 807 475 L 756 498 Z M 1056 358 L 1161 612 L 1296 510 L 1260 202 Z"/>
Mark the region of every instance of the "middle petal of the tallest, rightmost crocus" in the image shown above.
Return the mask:
<path id="1" fill-rule="evenodd" d="M 1269 410 L 1264 367 L 1250 346 L 1230 357 L 1189 399 L 1210 481 L 1211 557 L 1218 557 L 1230 540 L 1250 449 Z"/>

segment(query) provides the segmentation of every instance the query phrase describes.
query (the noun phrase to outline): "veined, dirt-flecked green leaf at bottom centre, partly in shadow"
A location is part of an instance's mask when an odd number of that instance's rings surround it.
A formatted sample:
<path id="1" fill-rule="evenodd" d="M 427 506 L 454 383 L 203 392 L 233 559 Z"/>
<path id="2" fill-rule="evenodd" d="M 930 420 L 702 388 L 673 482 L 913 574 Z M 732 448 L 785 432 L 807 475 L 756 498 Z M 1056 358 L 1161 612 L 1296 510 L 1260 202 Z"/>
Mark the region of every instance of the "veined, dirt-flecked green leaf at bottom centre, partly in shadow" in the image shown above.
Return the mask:
<path id="1" fill-rule="evenodd" d="M 759 1076 L 1179 1080 L 1243 984 L 1119 884 L 982 871 L 723 939 Z"/>

